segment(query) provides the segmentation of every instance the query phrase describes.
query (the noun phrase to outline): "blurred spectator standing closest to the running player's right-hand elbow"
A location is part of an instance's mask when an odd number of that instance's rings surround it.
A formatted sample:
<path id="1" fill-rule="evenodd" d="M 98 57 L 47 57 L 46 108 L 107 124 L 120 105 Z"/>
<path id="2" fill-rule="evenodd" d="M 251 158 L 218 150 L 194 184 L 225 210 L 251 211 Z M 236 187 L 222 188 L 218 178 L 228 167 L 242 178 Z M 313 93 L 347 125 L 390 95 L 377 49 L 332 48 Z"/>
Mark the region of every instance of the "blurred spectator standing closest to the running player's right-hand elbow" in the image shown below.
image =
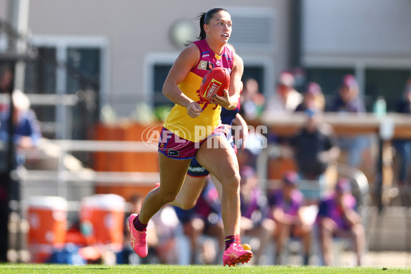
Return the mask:
<path id="1" fill-rule="evenodd" d="M 245 81 L 244 89 L 241 93 L 240 113 L 246 120 L 257 119 L 264 110 L 265 98 L 258 89 L 256 79 L 249 78 Z"/>

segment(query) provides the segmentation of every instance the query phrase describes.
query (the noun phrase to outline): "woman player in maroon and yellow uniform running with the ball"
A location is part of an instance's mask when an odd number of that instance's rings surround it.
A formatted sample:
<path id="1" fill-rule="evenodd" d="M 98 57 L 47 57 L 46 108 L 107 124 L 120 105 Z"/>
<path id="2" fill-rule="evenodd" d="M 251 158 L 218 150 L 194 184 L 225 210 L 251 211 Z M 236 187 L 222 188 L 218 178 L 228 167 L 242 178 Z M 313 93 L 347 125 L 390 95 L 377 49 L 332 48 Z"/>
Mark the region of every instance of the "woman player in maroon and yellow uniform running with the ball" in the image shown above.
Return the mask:
<path id="1" fill-rule="evenodd" d="M 240 175 L 234 150 L 221 125 L 221 107 L 236 108 L 240 96 L 242 59 L 226 47 L 232 32 L 231 16 L 214 8 L 200 16 L 199 40 L 188 45 L 169 71 L 163 94 L 175 103 L 164 122 L 159 140 L 160 187 L 147 194 L 140 214 L 129 216 L 132 248 L 147 256 L 147 224 L 166 203 L 174 201 L 182 188 L 192 158 L 221 182 L 221 216 L 224 223 L 223 265 L 249 262 L 253 253 L 236 243 L 240 215 Z M 199 97 L 201 80 L 212 67 L 230 73 L 229 89 L 213 101 Z"/>

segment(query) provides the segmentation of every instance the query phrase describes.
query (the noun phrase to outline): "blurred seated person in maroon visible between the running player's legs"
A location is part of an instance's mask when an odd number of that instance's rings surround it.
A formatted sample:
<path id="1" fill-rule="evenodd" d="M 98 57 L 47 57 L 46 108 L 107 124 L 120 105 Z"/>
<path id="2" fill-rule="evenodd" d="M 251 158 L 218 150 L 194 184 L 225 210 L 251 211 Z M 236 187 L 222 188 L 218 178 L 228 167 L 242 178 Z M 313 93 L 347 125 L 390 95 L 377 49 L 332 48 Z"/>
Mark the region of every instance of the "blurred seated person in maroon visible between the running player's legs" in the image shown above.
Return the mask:
<path id="1" fill-rule="evenodd" d="M 184 234 L 190 240 L 190 264 L 199 262 L 204 264 L 217 263 L 223 255 L 216 254 L 215 248 L 209 242 L 202 242 L 199 246 L 201 235 L 212 236 L 219 243 L 219 251 L 224 250 L 224 227 L 221 219 L 221 203 L 219 193 L 214 184 L 208 180 L 201 191 L 194 208 L 182 210 L 173 206 L 179 221 L 183 225 Z M 201 254 L 198 253 L 202 249 Z"/>

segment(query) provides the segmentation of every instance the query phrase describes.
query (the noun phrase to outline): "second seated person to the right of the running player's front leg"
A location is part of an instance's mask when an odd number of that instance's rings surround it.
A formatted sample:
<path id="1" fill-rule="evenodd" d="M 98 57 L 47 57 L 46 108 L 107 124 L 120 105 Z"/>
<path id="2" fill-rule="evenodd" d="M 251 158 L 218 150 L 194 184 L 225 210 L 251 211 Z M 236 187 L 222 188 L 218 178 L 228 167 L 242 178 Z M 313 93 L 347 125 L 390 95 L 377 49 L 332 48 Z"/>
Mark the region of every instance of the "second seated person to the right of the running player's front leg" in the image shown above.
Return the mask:
<path id="1" fill-rule="evenodd" d="M 303 195 L 297 189 L 297 181 L 295 171 L 286 171 L 281 188 L 268 194 L 275 221 L 275 264 L 282 264 L 282 250 L 290 236 L 303 241 L 303 264 L 308 265 L 310 260 L 312 222 L 303 216 Z"/>

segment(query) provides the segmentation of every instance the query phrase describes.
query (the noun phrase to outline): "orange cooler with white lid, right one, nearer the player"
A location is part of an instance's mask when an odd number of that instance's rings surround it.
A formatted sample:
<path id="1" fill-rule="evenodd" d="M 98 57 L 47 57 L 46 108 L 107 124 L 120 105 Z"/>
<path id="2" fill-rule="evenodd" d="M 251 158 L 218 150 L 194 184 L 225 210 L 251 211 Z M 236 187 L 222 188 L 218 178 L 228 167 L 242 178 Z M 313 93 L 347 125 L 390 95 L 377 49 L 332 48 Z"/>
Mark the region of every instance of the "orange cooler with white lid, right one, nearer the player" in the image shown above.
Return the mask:
<path id="1" fill-rule="evenodd" d="M 80 223 L 86 238 L 97 245 L 123 247 L 125 199 L 115 194 L 99 194 L 82 199 Z"/>

